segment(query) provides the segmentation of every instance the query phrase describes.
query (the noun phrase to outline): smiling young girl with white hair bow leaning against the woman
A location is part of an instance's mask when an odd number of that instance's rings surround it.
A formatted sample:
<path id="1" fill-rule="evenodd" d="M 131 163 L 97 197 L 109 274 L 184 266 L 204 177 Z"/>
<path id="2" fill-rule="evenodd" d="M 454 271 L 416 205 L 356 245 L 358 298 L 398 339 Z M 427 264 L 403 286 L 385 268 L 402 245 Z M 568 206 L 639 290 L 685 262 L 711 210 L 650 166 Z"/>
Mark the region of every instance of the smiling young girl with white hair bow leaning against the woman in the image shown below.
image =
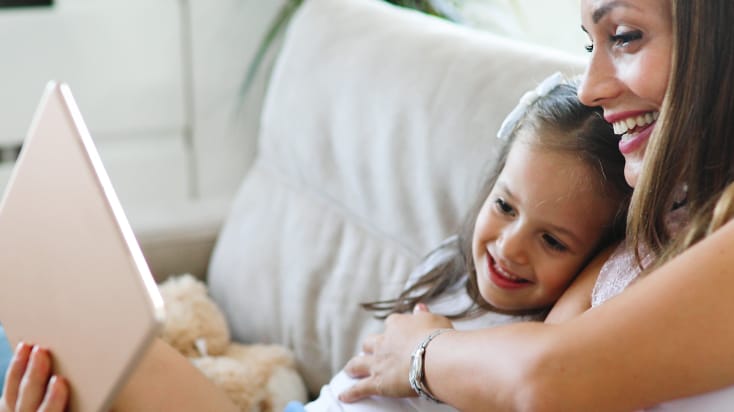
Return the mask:
<path id="1" fill-rule="evenodd" d="M 541 320 L 588 260 L 621 238 L 630 195 L 624 159 L 599 110 L 578 101 L 575 83 L 558 73 L 546 79 L 523 96 L 498 137 L 506 143 L 497 167 L 460 234 L 418 265 L 400 296 L 367 309 L 385 317 L 426 304 L 456 329 Z M 340 372 L 305 410 L 453 410 L 420 387 L 420 398 L 341 403 L 354 382 Z"/>

